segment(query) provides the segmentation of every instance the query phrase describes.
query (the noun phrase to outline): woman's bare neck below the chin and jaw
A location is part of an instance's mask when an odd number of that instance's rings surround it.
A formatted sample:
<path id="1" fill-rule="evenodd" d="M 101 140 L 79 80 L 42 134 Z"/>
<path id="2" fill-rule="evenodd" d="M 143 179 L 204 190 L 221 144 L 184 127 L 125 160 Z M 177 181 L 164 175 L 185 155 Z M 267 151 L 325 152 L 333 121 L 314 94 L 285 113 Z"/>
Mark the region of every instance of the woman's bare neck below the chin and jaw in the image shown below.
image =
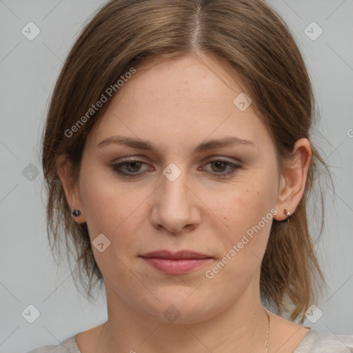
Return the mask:
<path id="1" fill-rule="evenodd" d="M 268 316 L 254 288 L 223 312 L 190 323 L 163 323 L 126 305 L 109 286 L 106 292 L 108 321 L 97 352 L 266 352 Z"/>

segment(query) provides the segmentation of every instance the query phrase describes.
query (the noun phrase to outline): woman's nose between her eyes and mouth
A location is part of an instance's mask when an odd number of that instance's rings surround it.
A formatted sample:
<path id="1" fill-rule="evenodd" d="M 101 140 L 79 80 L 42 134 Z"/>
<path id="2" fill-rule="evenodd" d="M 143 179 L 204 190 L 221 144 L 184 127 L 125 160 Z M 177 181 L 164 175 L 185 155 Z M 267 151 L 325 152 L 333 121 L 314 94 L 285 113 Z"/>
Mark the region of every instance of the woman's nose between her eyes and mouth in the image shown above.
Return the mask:
<path id="1" fill-rule="evenodd" d="M 181 170 L 180 166 L 179 169 Z M 161 175 L 161 185 L 153 193 L 151 222 L 174 235 L 194 230 L 200 223 L 199 201 L 186 170 L 177 179 Z"/>

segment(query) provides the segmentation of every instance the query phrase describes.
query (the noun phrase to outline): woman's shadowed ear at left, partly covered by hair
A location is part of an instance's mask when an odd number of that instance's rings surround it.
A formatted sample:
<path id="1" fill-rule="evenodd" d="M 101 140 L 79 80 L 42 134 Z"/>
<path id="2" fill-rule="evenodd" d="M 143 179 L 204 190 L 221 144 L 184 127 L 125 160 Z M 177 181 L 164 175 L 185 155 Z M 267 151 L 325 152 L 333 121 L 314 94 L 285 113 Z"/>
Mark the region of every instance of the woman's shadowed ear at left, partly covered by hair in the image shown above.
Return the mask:
<path id="1" fill-rule="evenodd" d="M 68 158 L 68 154 L 60 154 L 55 161 L 55 165 L 57 165 L 57 173 L 59 174 L 71 211 L 78 209 L 81 212 L 77 217 L 72 215 L 72 218 L 77 223 L 85 223 L 78 182 L 74 183 L 72 161 Z"/>

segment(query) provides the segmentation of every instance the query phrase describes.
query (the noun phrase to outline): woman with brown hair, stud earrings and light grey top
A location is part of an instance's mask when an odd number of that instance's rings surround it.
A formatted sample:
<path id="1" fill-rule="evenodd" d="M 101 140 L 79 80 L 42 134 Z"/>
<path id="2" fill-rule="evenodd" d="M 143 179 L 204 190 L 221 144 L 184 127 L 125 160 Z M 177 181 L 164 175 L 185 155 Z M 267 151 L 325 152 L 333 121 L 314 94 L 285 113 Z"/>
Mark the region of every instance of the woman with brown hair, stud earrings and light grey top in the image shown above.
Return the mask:
<path id="1" fill-rule="evenodd" d="M 108 321 L 32 352 L 352 352 L 293 322 L 324 283 L 313 107 L 263 1 L 103 6 L 54 88 L 42 162 L 53 243 L 63 230 L 88 296 L 105 285 Z"/>

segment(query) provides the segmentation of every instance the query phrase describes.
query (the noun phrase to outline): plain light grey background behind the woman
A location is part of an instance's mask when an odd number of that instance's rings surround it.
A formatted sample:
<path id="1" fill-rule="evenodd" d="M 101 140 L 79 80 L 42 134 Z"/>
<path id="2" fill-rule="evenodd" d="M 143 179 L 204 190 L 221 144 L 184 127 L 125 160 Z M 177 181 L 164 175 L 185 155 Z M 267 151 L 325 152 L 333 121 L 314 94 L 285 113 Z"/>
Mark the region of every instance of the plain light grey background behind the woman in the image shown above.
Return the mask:
<path id="1" fill-rule="evenodd" d="M 104 292 L 97 304 L 88 303 L 74 287 L 68 264 L 57 268 L 52 259 L 39 159 L 54 81 L 83 23 L 103 3 L 0 0 L 0 352 L 58 344 L 107 319 Z M 314 221 L 310 225 L 329 289 L 316 303 L 321 319 L 306 319 L 304 325 L 353 334 L 353 0 L 269 3 L 287 21 L 305 56 L 321 114 L 317 130 L 323 137 L 314 141 L 332 165 L 336 187 L 336 196 L 325 188 L 323 234 L 319 237 Z M 41 31 L 32 41 L 21 32 L 30 21 Z M 313 21 L 323 29 L 314 41 L 304 32 Z M 33 323 L 21 315 L 30 304 L 40 312 Z"/>

